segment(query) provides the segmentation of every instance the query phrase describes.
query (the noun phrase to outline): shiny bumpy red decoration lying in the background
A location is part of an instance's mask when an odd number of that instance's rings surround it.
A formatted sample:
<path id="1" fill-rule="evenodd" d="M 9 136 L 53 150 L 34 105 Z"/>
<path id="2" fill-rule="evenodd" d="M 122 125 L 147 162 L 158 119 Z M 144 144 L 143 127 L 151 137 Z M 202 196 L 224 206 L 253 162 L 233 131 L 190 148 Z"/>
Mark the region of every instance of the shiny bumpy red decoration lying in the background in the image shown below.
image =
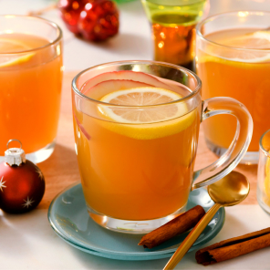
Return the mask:
<path id="1" fill-rule="evenodd" d="M 110 0 L 60 0 L 58 8 L 68 29 L 87 40 L 102 41 L 119 31 L 119 11 Z"/>

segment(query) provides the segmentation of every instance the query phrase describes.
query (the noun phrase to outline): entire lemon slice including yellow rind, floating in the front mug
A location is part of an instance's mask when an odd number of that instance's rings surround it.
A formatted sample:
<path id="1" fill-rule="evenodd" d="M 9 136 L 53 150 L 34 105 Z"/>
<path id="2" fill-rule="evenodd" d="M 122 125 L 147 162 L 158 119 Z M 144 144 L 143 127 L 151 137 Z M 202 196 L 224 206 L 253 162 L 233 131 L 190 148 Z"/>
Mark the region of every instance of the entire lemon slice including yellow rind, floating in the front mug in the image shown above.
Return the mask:
<path id="1" fill-rule="evenodd" d="M 189 112 L 185 102 L 164 104 L 177 99 L 182 99 L 182 96 L 163 88 L 131 88 L 111 92 L 100 101 L 132 107 L 99 105 L 99 112 L 109 120 L 102 121 L 102 125 L 138 140 L 176 134 L 189 127 L 196 115 L 193 111 Z M 151 106 L 157 104 L 163 105 Z"/>

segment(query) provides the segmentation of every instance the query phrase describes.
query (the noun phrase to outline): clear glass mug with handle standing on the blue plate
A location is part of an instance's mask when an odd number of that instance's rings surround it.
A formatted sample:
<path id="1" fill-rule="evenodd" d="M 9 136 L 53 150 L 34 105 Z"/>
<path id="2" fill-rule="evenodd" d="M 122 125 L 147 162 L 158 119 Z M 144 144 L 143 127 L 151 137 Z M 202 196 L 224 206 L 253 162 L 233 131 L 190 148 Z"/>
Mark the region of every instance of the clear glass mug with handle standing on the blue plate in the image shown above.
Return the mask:
<path id="1" fill-rule="evenodd" d="M 98 91 L 95 87 L 85 90 L 91 79 L 103 74 L 109 80 L 104 73 L 115 71 L 133 71 L 132 79 L 140 82 L 146 77 L 158 79 L 182 98 L 151 106 L 117 105 L 100 99 L 118 88 L 98 85 Z M 252 137 L 253 121 L 243 104 L 230 98 L 202 101 L 200 78 L 176 65 L 107 63 L 80 72 L 72 88 L 75 146 L 88 213 L 113 231 L 147 233 L 182 213 L 191 190 L 234 170 Z M 116 119 L 106 111 L 114 111 Z M 162 119 L 165 112 L 169 116 Z M 238 121 L 230 148 L 218 161 L 193 171 L 201 121 L 224 113 Z M 151 117 L 130 122 L 119 115 Z"/>

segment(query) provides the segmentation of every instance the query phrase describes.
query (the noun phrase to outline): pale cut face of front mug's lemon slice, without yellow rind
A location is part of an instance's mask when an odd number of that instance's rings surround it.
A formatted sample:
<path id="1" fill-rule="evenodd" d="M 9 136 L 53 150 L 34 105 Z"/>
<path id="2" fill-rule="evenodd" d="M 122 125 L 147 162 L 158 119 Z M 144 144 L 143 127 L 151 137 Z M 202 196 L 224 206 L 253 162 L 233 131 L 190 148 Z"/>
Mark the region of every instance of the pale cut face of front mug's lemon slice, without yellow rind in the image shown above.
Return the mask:
<path id="1" fill-rule="evenodd" d="M 163 88 L 131 88 L 109 93 L 100 101 L 125 106 L 148 106 L 168 103 L 177 99 L 182 99 L 182 96 Z M 146 109 L 114 109 L 109 106 L 100 106 L 99 109 L 110 119 L 132 124 L 164 121 L 187 112 L 186 105 L 180 107 L 176 104 Z"/>

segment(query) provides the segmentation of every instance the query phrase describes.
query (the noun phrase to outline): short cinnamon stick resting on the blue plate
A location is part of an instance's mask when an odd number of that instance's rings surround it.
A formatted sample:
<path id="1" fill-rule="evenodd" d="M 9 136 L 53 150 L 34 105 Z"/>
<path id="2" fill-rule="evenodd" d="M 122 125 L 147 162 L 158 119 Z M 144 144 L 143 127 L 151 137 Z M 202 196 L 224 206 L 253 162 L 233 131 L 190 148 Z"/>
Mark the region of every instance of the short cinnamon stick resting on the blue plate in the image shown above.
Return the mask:
<path id="1" fill-rule="evenodd" d="M 203 207 L 201 205 L 197 205 L 189 211 L 177 216 L 169 223 L 165 223 L 151 233 L 142 236 L 139 245 L 143 245 L 143 247 L 147 248 L 153 248 L 162 244 L 172 237 L 192 229 L 192 227 L 201 220 L 204 213 L 205 211 Z"/>

